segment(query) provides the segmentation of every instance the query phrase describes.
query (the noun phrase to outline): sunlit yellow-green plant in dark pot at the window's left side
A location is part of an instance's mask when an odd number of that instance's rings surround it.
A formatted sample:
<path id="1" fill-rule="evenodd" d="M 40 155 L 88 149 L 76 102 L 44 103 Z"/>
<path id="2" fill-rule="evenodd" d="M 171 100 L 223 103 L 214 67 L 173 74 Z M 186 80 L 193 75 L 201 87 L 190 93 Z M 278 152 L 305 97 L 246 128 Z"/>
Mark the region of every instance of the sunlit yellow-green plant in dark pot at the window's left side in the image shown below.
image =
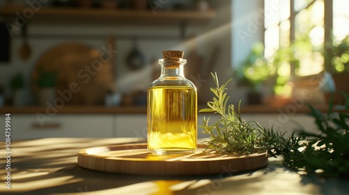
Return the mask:
<path id="1" fill-rule="evenodd" d="M 269 63 L 264 56 L 264 45 L 256 42 L 250 54 L 236 70 L 236 76 L 240 83 L 247 84 L 249 91 L 247 94 L 248 104 L 262 103 L 262 84 L 275 75 L 276 68 L 273 63 Z"/>

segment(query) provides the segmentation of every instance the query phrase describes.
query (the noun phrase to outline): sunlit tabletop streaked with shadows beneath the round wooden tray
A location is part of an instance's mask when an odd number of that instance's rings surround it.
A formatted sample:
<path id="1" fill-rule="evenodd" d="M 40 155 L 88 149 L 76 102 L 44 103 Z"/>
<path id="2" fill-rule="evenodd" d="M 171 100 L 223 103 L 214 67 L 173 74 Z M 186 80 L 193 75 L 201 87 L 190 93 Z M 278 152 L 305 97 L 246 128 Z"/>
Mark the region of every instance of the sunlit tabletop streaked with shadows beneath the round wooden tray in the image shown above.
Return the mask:
<path id="1" fill-rule="evenodd" d="M 47 138 L 13 141 L 11 189 L 0 159 L 0 193 L 8 194 L 347 194 L 349 180 L 301 176 L 269 158 L 263 169 L 225 176 L 134 176 L 91 171 L 77 165 L 83 148 L 142 142 L 135 138 Z M 5 143 L 0 153 L 6 156 Z"/>

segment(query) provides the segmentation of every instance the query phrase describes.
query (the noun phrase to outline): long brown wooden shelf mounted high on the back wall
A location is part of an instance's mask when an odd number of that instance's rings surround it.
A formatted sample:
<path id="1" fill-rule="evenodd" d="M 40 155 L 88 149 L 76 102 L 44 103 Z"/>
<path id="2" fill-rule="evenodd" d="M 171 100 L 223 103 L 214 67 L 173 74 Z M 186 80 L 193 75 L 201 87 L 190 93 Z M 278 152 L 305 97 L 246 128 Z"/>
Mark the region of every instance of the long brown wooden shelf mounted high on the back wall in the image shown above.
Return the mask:
<path id="1" fill-rule="evenodd" d="M 24 8 L 18 6 L 4 6 L 0 8 L 0 15 L 17 17 L 16 12 L 22 15 Z M 109 10 L 102 8 L 40 8 L 34 12 L 30 20 L 40 22 L 191 22 L 201 24 L 211 20 L 215 13 L 213 11 L 200 12 L 196 10 L 186 11 L 161 11 L 156 10 Z M 66 20 L 70 19 L 70 20 Z"/>

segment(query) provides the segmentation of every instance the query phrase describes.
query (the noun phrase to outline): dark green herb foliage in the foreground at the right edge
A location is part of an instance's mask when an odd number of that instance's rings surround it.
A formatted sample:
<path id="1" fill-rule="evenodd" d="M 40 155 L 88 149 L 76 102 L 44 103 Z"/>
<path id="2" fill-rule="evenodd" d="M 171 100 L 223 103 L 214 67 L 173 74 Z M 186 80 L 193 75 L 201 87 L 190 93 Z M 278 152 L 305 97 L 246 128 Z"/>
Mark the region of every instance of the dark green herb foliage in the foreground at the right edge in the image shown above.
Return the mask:
<path id="1" fill-rule="evenodd" d="M 346 101 L 349 102 L 348 98 Z M 307 143 L 301 154 L 291 156 L 291 167 L 308 173 L 321 172 L 325 176 L 349 177 L 349 114 L 329 110 L 325 115 L 309 107 L 319 133 L 299 132 Z"/>

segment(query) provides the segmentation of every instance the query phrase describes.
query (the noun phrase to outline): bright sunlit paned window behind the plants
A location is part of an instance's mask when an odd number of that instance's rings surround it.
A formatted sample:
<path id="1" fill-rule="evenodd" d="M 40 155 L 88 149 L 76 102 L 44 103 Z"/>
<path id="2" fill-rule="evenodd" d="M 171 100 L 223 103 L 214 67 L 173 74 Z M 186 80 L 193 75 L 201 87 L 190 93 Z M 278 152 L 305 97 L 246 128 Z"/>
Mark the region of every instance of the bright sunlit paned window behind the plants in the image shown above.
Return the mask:
<path id="1" fill-rule="evenodd" d="M 279 66 L 279 75 L 288 79 L 322 72 L 324 45 L 349 35 L 348 0 L 265 0 L 264 6 L 265 57 L 272 61 L 277 51 L 291 48 L 292 57 L 298 59 Z"/>

